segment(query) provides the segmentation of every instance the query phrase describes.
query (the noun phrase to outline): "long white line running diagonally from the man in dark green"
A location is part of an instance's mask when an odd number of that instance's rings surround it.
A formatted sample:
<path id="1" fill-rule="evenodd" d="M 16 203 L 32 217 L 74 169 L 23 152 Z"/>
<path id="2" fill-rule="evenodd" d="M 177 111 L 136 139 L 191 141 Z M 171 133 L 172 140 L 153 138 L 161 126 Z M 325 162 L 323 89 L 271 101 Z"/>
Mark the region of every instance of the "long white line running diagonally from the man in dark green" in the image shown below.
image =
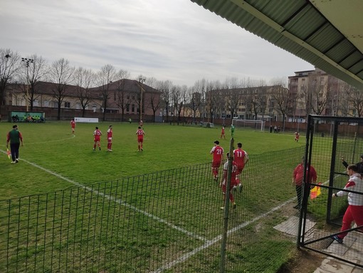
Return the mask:
<path id="1" fill-rule="evenodd" d="M 6 153 L 4 150 L 0 150 L 0 152 L 2 152 L 2 153 Z M 23 159 L 23 158 L 21 158 L 21 162 L 28 163 L 29 165 L 32 165 L 33 167 L 36 167 L 36 168 L 38 168 L 38 169 L 41 169 L 41 170 L 43 170 L 44 172 L 48 172 L 49 174 L 54 175 L 54 176 L 56 176 L 56 177 L 58 177 L 58 178 L 60 178 L 60 179 L 62 179 L 62 180 L 67 181 L 67 182 L 70 182 L 70 183 L 71 183 L 71 184 L 73 184 L 73 185 L 76 185 L 76 186 L 78 186 L 78 187 L 82 187 L 82 188 L 84 188 L 85 190 L 88 190 L 88 191 L 90 191 L 90 192 L 95 192 L 95 194 L 96 194 L 96 195 L 100 195 L 100 196 L 102 196 L 102 197 L 105 197 L 105 198 L 106 198 L 106 199 L 108 199 L 108 200 L 111 200 L 111 201 L 113 201 L 113 202 L 116 202 L 117 204 L 120 204 L 120 205 L 122 205 L 122 206 L 128 207 L 128 208 L 130 208 L 131 210 L 135 210 L 135 212 L 140 212 L 141 214 L 146 215 L 147 217 L 150 217 L 150 218 L 152 218 L 152 219 L 156 220 L 157 222 L 160 222 L 160 223 L 163 223 L 163 224 L 165 224 L 165 225 L 168 225 L 169 227 L 172 227 L 174 230 L 178 230 L 179 232 L 182 232 L 182 233 L 184 233 L 184 234 L 186 234 L 186 235 L 188 235 L 188 236 L 190 236 L 190 237 L 193 237 L 193 238 L 196 238 L 196 239 L 200 239 L 201 241 L 207 241 L 207 239 L 206 239 L 206 238 L 204 238 L 204 237 L 201 237 L 201 236 L 199 236 L 199 235 L 196 235 L 196 234 L 194 234 L 193 232 L 189 232 L 188 230 L 184 230 L 183 228 L 178 227 L 178 226 L 176 226 L 176 225 L 174 225 L 174 224 L 172 224 L 172 223 L 170 223 L 170 222 L 167 222 L 166 220 L 164 220 L 164 219 L 162 219 L 162 218 L 160 218 L 160 217 L 157 217 L 157 216 L 155 216 L 155 215 L 152 215 L 152 214 L 150 214 L 149 212 L 145 212 L 144 210 L 140 210 L 140 209 L 138 209 L 137 207 L 134 207 L 133 205 L 127 204 L 127 202 L 122 201 L 121 199 L 118 199 L 118 198 L 112 197 L 112 196 L 110 196 L 110 195 L 105 195 L 104 193 L 99 192 L 98 190 L 93 190 L 91 187 L 88 187 L 88 186 L 86 186 L 86 185 L 83 185 L 83 184 L 80 184 L 80 183 L 75 182 L 75 181 L 73 181 L 73 180 L 70 180 L 70 179 L 69 179 L 69 178 L 67 178 L 67 177 L 64 177 L 64 176 L 62 176 L 62 175 L 59 175 L 58 173 L 53 172 L 53 171 L 51 171 L 51 170 L 48 170 L 48 169 L 46 169 L 46 168 L 43 168 L 43 167 L 41 167 L 40 165 L 37 165 L 37 164 L 35 164 L 35 163 L 31 163 L 30 161 L 25 160 L 25 159 Z"/>

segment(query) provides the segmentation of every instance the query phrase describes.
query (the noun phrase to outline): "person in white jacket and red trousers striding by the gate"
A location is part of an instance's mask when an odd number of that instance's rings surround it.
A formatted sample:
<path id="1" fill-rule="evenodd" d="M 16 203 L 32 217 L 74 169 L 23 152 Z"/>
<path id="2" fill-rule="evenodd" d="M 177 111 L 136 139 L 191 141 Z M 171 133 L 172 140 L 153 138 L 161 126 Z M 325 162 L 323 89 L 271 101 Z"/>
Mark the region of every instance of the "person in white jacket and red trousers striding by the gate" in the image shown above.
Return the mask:
<path id="1" fill-rule="evenodd" d="M 345 185 L 344 190 L 353 192 L 341 190 L 332 194 L 332 197 L 348 195 L 348 207 L 343 216 L 342 228 L 340 229 L 341 232 L 349 230 L 353 221 L 357 226 L 363 225 L 363 181 L 358 172 L 357 165 L 348 165 L 347 173 L 349 175 L 349 180 L 347 185 Z M 362 192 L 362 194 L 354 192 Z M 363 229 L 361 229 L 361 231 L 363 232 Z M 335 241 L 342 244 L 343 239 L 347 234 L 348 232 L 343 232 L 340 235 L 333 236 L 332 239 L 335 239 Z"/>

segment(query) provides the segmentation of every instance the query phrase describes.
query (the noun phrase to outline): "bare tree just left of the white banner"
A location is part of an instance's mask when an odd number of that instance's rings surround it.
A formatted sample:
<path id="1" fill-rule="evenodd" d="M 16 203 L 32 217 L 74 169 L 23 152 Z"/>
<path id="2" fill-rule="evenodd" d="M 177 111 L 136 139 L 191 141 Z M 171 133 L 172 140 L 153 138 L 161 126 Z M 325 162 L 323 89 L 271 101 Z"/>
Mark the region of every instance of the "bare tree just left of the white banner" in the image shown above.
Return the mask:
<path id="1" fill-rule="evenodd" d="M 58 103 L 58 120 L 61 120 L 61 106 L 65 97 L 66 86 L 73 81 L 75 68 L 70 66 L 69 61 L 61 58 L 54 61 L 49 68 L 49 77 L 52 83 L 55 83 L 53 96 Z"/>

